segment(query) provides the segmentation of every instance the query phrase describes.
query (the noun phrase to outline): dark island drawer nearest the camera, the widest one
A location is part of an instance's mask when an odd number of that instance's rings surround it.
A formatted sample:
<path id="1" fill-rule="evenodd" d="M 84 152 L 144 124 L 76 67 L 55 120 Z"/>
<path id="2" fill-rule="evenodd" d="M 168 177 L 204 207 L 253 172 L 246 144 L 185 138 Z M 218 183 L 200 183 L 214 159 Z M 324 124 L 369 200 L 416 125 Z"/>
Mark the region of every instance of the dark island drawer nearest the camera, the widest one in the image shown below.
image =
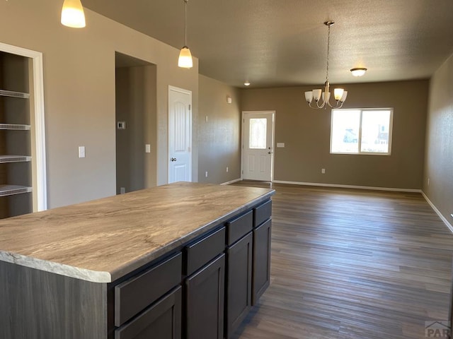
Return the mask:
<path id="1" fill-rule="evenodd" d="M 182 254 L 115 286 L 115 326 L 129 320 L 181 282 Z"/>

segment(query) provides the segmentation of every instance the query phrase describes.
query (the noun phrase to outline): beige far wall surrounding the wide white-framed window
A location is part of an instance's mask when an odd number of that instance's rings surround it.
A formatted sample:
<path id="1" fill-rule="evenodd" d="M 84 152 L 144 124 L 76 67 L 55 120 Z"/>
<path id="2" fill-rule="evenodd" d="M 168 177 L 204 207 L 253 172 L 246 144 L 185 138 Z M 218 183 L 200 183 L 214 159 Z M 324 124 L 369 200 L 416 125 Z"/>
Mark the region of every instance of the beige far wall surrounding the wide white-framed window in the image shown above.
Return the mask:
<path id="1" fill-rule="evenodd" d="M 330 110 L 310 109 L 313 87 L 242 90 L 242 110 L 275 110 L 274 179 L 287 182 L 421 189 L 428 81 L 344 86 L 343 108 L 393 107 L 390 156 L 330 154 Z M 321 168 L 326 174 L 321 174 Z"/>

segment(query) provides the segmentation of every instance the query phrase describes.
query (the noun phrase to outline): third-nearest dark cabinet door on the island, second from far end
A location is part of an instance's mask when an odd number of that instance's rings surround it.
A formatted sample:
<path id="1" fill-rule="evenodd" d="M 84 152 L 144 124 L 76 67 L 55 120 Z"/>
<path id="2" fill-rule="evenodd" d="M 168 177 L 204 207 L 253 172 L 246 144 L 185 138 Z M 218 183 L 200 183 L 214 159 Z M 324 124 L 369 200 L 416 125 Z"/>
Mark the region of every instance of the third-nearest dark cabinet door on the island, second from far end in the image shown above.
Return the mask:
<path id="1" fill-rule="evenodd" d="M 253 233 L 226 250 L 226 338 L 251 309 Z"/>

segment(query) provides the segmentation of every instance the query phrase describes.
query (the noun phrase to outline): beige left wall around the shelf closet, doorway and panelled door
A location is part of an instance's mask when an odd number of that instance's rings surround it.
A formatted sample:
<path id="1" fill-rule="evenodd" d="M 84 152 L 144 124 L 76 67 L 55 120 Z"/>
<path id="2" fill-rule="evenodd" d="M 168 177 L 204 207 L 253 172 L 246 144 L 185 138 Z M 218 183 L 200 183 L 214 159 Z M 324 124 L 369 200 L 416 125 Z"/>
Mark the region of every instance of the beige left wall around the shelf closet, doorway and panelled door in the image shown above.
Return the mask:
<path id="1" fill-rule="evenodd" d="M 61 0 L 0 1 L 1 42 L 44 57 L 49 207 L 115 194 L 115 51 L 156 65 L 157 184 L 166 183 L 168 85 L 192 91 L 196 141 L 197 59 L 193 69 L 180 69 L 178 49 L 88 9 L 86 28 L 64 27 L 61 7 Z M 86 147 L 84 159 L 77 157 L 79 145 Z"/>

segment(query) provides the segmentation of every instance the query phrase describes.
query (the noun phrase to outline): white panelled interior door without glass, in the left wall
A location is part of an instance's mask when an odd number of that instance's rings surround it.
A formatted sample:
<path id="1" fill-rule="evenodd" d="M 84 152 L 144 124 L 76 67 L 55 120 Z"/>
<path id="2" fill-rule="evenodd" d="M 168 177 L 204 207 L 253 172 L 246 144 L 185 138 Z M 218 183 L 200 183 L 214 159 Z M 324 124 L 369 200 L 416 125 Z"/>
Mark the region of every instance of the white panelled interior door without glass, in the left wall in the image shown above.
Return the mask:
<path id="1" fill-rule="evenodd" d="M 192 92 L 168 86 L 168 183 L 192 181 Z"/>

